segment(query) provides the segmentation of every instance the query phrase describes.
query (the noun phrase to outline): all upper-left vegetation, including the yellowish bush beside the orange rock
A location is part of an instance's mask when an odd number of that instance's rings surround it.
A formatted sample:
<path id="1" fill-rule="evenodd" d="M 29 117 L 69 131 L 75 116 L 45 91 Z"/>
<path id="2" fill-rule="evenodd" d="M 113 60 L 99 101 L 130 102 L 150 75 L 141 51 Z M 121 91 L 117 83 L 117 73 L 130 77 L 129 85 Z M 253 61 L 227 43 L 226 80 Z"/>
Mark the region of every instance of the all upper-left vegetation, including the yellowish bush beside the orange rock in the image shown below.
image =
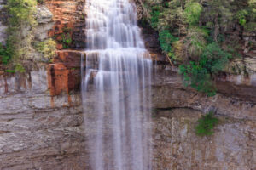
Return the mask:
<path id="1" fill-rule="evenodd" d="M 38 50 L 46 58 L 55 54 L 55 42 L 47 39 L 36 42 L 34 39 L 37 0 L 8 0 L 4 8 L 8 15 L 6 44 L 0 44 L 0 64 L 6 72 L 24 72 L 26 59 Z M 34 44 L 36 43 L 36 48 Z"/>

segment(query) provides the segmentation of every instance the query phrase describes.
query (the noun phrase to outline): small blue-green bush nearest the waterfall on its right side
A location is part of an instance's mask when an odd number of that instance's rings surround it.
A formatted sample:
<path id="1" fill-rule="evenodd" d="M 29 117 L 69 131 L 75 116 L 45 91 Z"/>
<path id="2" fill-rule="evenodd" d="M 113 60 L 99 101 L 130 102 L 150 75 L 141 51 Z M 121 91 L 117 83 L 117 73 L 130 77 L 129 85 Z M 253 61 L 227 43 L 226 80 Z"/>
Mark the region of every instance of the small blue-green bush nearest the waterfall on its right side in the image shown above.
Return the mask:
<path id="1" fill-rule="evenodd" d="M 169 54 L 172 52 L 172 43 L 178 41 L 178 38 L 172 36 L 170 31 L 164 30 L 160 31 L 159 41 L 162 50 L 165 51 L 166 54 Z"/>

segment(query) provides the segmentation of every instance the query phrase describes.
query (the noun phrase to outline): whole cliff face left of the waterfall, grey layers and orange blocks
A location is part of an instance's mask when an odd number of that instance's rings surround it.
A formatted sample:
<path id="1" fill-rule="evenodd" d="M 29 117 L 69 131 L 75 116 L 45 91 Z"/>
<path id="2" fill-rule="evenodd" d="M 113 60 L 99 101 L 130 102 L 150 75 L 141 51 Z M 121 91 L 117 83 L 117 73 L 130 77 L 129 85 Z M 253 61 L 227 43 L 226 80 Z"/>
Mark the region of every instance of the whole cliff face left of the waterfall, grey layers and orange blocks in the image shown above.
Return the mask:
<path id="1" fill-rule="evenodd" d="M 78 36 L 83 31 L 77 17 L 80 5 L 67 1 L 39 5 L 35 38 L 55 38 L 64 27 L 72 28 L 72 38 Z M 0 23 L 1 41 L 6 35 L 3 27 Z M 80 56 L 80 52 L 59 51 L 50 64 L 38 56 L 37 66 L 29 72 L 0 73 L 1 170 L 84 170 L 88 157 L 79 93 Z"/>

